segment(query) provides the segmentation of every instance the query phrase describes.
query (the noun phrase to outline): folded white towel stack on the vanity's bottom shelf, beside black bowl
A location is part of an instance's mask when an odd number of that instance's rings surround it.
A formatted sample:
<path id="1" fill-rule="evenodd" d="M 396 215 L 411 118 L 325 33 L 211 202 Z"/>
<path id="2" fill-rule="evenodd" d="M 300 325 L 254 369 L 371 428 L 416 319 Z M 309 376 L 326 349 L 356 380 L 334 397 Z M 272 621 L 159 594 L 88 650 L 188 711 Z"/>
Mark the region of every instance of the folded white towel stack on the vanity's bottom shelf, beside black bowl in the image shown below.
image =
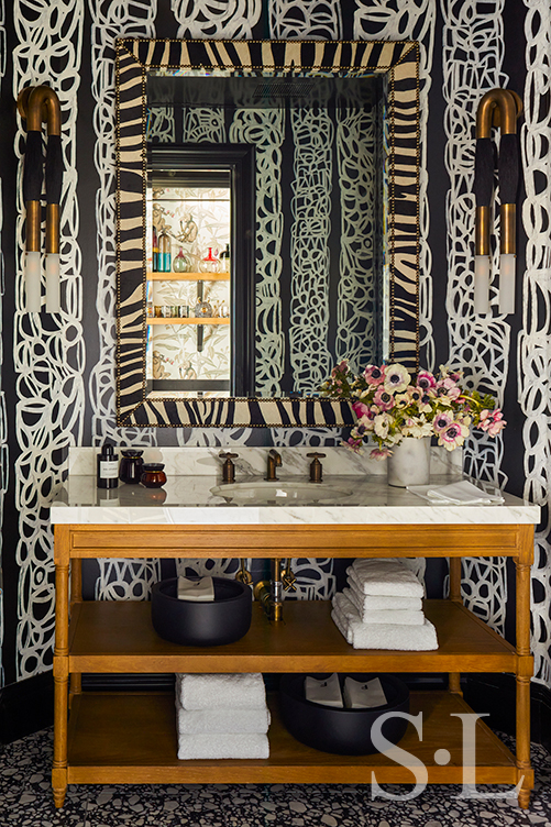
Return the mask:
<path id="1" fill-rule="evenodd" d="M 269 712 L 258 674 L 176 675 L 178 758 L 268 758 Z"/>

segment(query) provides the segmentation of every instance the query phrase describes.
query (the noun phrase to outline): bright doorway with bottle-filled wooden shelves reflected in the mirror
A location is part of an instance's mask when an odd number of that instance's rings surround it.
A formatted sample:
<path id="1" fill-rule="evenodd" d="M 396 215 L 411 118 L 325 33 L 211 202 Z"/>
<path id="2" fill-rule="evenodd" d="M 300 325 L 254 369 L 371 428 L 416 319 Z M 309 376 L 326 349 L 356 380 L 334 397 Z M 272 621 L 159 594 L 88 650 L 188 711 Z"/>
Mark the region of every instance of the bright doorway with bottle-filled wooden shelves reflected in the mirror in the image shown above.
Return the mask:
<path id="1" fill-rule="evenodd" d="M 230 396 L 230 172 L 152 172 L 146 200 L 147 381 Z"/>

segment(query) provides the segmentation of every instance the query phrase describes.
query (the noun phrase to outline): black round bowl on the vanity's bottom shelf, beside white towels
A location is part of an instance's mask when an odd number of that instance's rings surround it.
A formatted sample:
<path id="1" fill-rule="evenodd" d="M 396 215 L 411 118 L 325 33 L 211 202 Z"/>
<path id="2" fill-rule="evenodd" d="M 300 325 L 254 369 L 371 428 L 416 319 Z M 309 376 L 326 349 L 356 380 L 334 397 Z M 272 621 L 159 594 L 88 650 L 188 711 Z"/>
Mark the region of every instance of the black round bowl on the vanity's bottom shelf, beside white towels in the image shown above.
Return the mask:
<path id="1" fill-rule="evenodd" d="M 341 691 L 344 679 L 340 674 Z M 409 712 L 409 690 L 394 675 L 351 674 L 356 681 L 378 677 L 385 691 L 387 703 L 370 709 L 338 709 L 332 706 L 312 704 L 305 697 L 306 675 L 283 675 L 279 684 L 279 709 L 282 720 L 297 741 L 307 747 L 333 752 L 338 756 L 368 756 L 377 752 L 373 746 L 371 730 L 374 721 L 384 713 Z M 315 674 L 312 677 L 329 677 Z M 404 718 L 388 718 L 382 728 L 383 736 L 392 743 L 398 743 L 407 729 Z"/>

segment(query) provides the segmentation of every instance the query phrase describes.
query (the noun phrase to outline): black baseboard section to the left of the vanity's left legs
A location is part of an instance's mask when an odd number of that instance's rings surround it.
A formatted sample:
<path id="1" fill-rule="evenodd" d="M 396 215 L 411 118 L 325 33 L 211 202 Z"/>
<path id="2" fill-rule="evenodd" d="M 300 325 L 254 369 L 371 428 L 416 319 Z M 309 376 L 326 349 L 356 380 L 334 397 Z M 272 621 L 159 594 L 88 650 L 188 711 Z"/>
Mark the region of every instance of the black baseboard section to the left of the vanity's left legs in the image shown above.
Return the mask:
<path id="1" fill-rule="evenodd" d="M 0 743 L 11 743 L 53 723 L 52 672 L 43 672 L 0 690 Z"/>

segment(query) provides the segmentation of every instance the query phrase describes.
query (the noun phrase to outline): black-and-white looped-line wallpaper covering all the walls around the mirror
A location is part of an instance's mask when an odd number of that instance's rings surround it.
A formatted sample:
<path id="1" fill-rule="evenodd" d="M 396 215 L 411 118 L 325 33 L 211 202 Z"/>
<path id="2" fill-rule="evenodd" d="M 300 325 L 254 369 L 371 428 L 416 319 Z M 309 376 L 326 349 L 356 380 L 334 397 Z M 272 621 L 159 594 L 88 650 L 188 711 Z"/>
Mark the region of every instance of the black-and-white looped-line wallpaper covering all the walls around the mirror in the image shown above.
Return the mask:
<path id="1" fill-rule="evenodd" d="M 0 406 L 0 452 L 2 479 L 0 505 L 5 514 L 16 515 L 18 530 L 4 532 L 4 566 L 16 572 L 15 581 L 4 582 L 13 611 L 0 622 L 3 635 L 5 682 L 14 682 L 51 666 L 53 644 L 53 549 L 47 522 L 46 497 L 60 481 L 65 449 L 69 444 L 98 445 L 106 438 L 120 444 L 148 445 L 331 445 L 340 435 L 318 429 L 118 429 L 114 416 L 114 40 L 121 36 L 186 38 L 322 38 L 322 40 L 418 40 L 421 47 L 421 158 L 420 181 L 420 284 L 421 349 L 428 367 L 439 362 L 467 366 L 473 383 L 484 381 L 487 389 L 511 406 L 517 397 L 524 415 L 520 430 L 505 431 L 495 442 L 472 442 L 466 450 L 466 468 L 476 476 L 504 485 L 507 455 L 504 445 L 515 452 L 518 476 L 524 457 L 521 485 L 525 494 L 541 505 L 549 500 L 550 388 L 549 375 L 549 180 L 544 159 L 550 139 L 549 108 L 541 106 L 549 93 L 544 60 L 548 59 L 551 20 L 546 0 L 524 0 L 527 41 L 525 125 L 522 165 L 527 201 L 522 213 L 528 236 L 522 307 L 515 320 L 493 309 L 487 318 L 472 312 L 474 157 L 473 124 L 476 106 L 486 89 L 505 86 L 507 32 L 504 27 L 505 0 L 480 5 L 476 37 L 466 8 L 472 4 L 451 0 L 60 0 L 52 22 L 48 0 L 13 0 L 13 22 L 0 18 L 0 81 L 2 98 L 10 100 L 24 85 L 46 82 L 57 91 L 63 113 L 65 162 L 62 201 L 62 261 L 64 312 L 60 316 L 30 317 L 23 310 L 21 251 L 23 227 L 12 218 L 16 181 L 13 158 L 2 162 L 2 251 L 7 264 L 7 285 L 14 285 L 14 317 L 7 315 L 3 330 L 5 374 L 13 375 L 7 392 L 7 411 Z M 2 11 L 3 5 L 1 7 Z M 547 16 L 546 16 L 547 15 Z M 63 25 L 60 25 L 63 23 Z M 2 35 L 8 29 L 5 42 Z M 442 42 L 437 40 L 442 33 Z M 518 32 L 515 32 L 518 36 Z M 13 78 L 3 75 L 5 53 L 13 54 Z M 465 59 L 466 54 L 466 59 Z M 434 70 L 434 71 L 433 71 Z M 437 88 L 434 78 L 442 73 Z M 432 80 L 431 80 L 432 77 Z M 517 90 L 521 91 L 521 90 Z M 443 123 L 440 112 L 443 111 Z M 262 300 L 258 318 L 268 335 L 261 343 L 260 363 L 264 386 L 278 393 L 280 366 L 285 360 L 282 334 L 282 297 L 278 275 L 283 266 L 280 249 L 282 214 L 280 147 L 284 123 L 280 115 L 249 112 L 227 130 L 222 117 L 212 110 L 189 112 L 184 134 L 176 135 L 168 111 L 158 112 L 152 130 L 159 140 L 252 141 L 258 154 L 258 235 L 263 240 L 258 271 Z M 329 129 L 329 124 L 327 125 Z M 15 158 L 24 147 L 24 129 L 13 120 Z M 293 121 L 302 135 L 308 129 L 304 114 Z M 338 142 L 345 147 L 349 124 L 339 123 Z M 269 134 L 269 152 L 264 142 Z M 368 136 L 366 136 L 368 140 Z M 263 152 L 263 146 L 265 150 Z M 275 148 L 274 148 L 275 147 Z M 323 147 L 305 145 L 308 153 Z M 279 152 L 279 154 L 278 154 Z M 342 150 L 342 157 L 345 150 Z M 436 158 L 439 164 L 436 165 Z M 442 161 L 445 175 L 442 176 Z M 341 162 L 340 162 L 341 163 Z M 434 166 L 436 165 L 436 166 Z M 344 165 L 341 163 L 342 173 Z M 431 170 L 437 174 L 431 175 Z M 326 168 L 328 173 L 328 168 Z M 371 172 L 365 170 L 366 180 Z M 440 176 L 439 176 L 440 174 Z M 10 177 L 11 176 L 11 177 Z M 19 167 L 21 176 L 21 164 Z M 445 180 L 442 180 L 447 178 Z M 78 185 L 78 186 L 77 186 Z M 8 189 L 8 187 L 10 189 Z M 87 189 L 86 189 L 87 188 Z M 95 203 L 81 192 L 95 190 Z M 352 190 L 351 190 L 352 191 Z M 308 195 L 308 194 L 306 194 Z M 351 205 L 354 203 L 352 196 Z M 16 203 L 21 216 L 21 201 Z M 430 210 L 429 210 L 430 207 Z M 343 210 L 352 210 L 345 205 Z M 327 205 L 319 199 L 317 217 L 327 220 Z M 447 239 L 431 232 L 430 211 L 445 210 Z M 297 213 L 296 220 L 300 219 Z M 295 254 L 302 239 L 297 234 Z M 13 247 L 16 254 L 13 255 Z M 85 256 L 84 250 L 92 250 Z M 267 250 L 269 249 L 269 253 Z M 354 239 L 343 247 L 342 256 L 352 256 Z M 547 256 L 547 257 L 546 257 Z M 323 251 L 319 251 L 322 261 Z M 296 285 L 297 297 L 306 289 Z M 448 280 L 445 308 L 433 307 L 433 290 Z M 96 306 L 84 302 L 95 294 Z M 440 295 L 442 289 L 440 289 Z M 495 298 L 495 297 L 494 297 Z M 343 302 L 350 304 L 345 295 Z M 301 312 L 301 311 L 300 311 Z M 297 317 L 300 313 L 297 312 Z M 511 321 L 521 326 L 518 340 L 518 377 L 508 372 L 515 353 Z M 515 328 L 517 330 L 517 328 Z M 10 340 L 12 337 L 12 340 Z M 13 355 L 12 355 L 13 353 Z M 344 355 L 344 353 L 342 354 Z M 10 422 L 10 432 L 7 423 Z M 522 444 L 524 441 L 524 444 Z M 7 485 L 7 452 L 10 446 L 10 487 Z M 507 465 L 507 467 L 510 466 Z M 5 496 L 4 496 L 5 490 Z M 551 683 L 551 619 L 549 616 L 549 516 L 537 538 L 537 565 L 533 571 L 533 620 L 537 653 L 537 680 Z M 15 525 L 15 523 L 14 523 Z M 179 571 L 200 571 L 212 563 L 178 561 Z M 423 565 L 423 564 L 421 564 Z M 222 566 L 223 567 L 223 566 Z M 337 572 L 330 560 L 296 562 L 301 597 L 328 597 L 334 589 Z M 98 598 L 142 599 L 159 578 L 157 561 L 104 560 L 98 565 L 93 588 Z M 427 576 L 431 576 L 430 564 Z M 437 585 L 440 587 L 441 583 Z M 494 628 L 503 631 L 509 618 L 505 566 L 467 562 L 464 567 L 465 599 Z M 1 598 L 0 598 L 1 599 Z M 0 603 L 0 610 L 2 604 Z M 509 613 L 510 614 L 510 613 Z"/>

